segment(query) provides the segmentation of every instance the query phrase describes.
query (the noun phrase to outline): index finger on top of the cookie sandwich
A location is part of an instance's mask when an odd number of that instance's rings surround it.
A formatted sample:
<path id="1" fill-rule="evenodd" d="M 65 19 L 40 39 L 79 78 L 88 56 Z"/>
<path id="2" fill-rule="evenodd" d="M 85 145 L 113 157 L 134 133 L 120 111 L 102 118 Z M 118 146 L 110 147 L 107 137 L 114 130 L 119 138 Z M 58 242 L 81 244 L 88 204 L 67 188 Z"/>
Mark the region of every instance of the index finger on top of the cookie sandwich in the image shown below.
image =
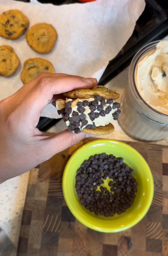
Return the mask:
<path id="1" fill-rule="evenodd" d="M 96 78 L 83 78 L 66 74 L 43 76 L 24 97 L 21 104 L 23 107 L 25 105 L 27 115 L 32 116 L 32 113 L 34 113 L 34 115 L 40 117 L 43 108 L 51 102 L 53 95 L 69 92 L 73 89 L 89 89 L 96 85 Z"/>

